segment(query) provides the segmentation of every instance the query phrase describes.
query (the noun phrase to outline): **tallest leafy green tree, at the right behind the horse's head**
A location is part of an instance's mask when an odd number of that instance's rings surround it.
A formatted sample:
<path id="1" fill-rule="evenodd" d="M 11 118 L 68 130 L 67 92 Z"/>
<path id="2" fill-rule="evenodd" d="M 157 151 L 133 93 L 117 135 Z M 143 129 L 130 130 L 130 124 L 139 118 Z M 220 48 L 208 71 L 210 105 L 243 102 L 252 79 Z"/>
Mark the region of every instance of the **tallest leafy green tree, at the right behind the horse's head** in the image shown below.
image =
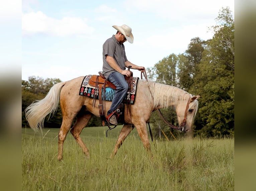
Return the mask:
<path id="1" fill-rule="evenodd" d="M 191 92 L 201 95 L 199 113 L 206 136 L 234 133 L 234 20 L 228 8 L 217 17 L 214 37 L 207 43 Z M 198 122 L 198 121 L 197 121 Z"/>

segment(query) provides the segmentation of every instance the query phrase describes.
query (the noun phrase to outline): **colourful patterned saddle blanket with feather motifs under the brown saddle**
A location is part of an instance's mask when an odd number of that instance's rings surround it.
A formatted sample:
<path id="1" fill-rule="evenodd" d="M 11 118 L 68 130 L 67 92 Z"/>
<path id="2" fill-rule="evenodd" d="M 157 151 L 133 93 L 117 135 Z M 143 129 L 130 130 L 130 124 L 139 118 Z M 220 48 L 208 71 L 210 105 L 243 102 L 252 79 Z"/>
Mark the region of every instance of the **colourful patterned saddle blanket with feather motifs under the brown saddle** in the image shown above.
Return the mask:
<path id="1" fill-rule="evenodd" d="M 95 87 L 90 86 L 88 83 L 91 76 L 92 75 L 85 76 L 85 78 L 81 84 L 79 95 L 94 98 Z M 124 98 L 125 103 L 134 104 L 138 80 L 139 80 L 138 77 L 133 77 L 133 83 L 132 83 L 133 89 L 131 92 L 129 92 L 129 91 L 127 92 L 126 97 Z M 105 94 L 106 101 L 112 101 L 113 95 L 115 94 L 115 92 L 116 92 L 116 90 L 114 90 L 110 87 L 106 88 L 106 94 Z M 96 99 L 99 99 L 98 93 L 96 95 Z M 103 99 L 103 89 L 102 89 L 102 99 Z"/>

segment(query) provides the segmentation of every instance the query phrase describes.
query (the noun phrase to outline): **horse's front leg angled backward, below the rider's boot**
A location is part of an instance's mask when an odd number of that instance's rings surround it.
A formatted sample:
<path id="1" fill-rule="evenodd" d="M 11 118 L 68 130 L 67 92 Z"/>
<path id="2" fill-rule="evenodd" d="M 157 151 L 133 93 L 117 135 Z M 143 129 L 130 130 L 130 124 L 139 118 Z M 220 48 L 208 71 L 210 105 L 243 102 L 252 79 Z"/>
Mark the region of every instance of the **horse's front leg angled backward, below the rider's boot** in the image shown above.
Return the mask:
<path id="1" fill-rule="evenodd" d="M 115 148 L 112 152 L 112 154 L 110 155 L 110 158 L 114 158 L 117 150 L 120 148 L 120 146 L 123 144 L 124 139 L 130 134 L 130 132 L 132 131 L 132 129 L 134 128 L 134 126 L 131 124 L 124 124 L 123 128 L 121 129 L 121 132 L 118 136 L 118 139 L 116 141 L 116 145 Z"/>

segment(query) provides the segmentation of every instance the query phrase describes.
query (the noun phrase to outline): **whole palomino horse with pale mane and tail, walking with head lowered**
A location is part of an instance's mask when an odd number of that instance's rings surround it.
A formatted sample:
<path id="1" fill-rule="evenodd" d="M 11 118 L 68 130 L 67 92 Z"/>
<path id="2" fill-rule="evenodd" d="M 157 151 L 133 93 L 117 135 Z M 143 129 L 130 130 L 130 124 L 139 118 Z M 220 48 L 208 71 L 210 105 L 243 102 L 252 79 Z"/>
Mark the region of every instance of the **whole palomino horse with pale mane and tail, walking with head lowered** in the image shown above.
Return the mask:
<path id="1" fill-rule="evenodd" d="M 80 133 L 93 115 L 99 116 L 99 100 L 96 100 L 96 106 L 93 107 L 93 98 L 79 95 L 83 79 L 84 77 L 78 77 L 55 84 L 44 99 L 34 101 L 25 109 L 25 116 L 30 127 L 37 130 L 43 127 L 45 116 L 56 111 L 60 101 L 63 119 L 58 133 L 58 160 L 62 160 L 63 143 L 75 117 L 77 120 L 71 133 L 83 152 L 88 157 L 90 156 Z M 139 80 L 136 101 L 131 105 L 131 113 L 124 111 L 125 124 L 118 136 L 111 157 L 116 155 L 118 148 L 134 127 L 137 129 L 144 147 L 151 153 L 146 123 L 149 121 L 151 112 L 156 109 L 171 107 L 176 110 L 178 122 L 182 124 L 180 130 L 189 131 L 198 109 L 197 99 L 199 97 L 199 95 L 193 96 L 176 87 Z M 106 101 L 106 110 L 110 108 L 110 105 L 111 101 Z"/>

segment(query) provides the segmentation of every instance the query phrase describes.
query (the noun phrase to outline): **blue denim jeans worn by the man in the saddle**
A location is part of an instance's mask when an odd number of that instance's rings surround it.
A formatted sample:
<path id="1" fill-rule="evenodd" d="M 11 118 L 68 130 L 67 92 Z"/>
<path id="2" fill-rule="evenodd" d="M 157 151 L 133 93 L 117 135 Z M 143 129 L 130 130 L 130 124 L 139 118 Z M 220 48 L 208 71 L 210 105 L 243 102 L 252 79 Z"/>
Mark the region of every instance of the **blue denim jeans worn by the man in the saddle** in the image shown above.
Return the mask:
<path id="1" fill-rule="evenodd" d="M 112 113 L 123 102 L 123 99 L 128 91 L 128 83 L 126 82 L 124 75 L 121 73 L 112 72 L 108 76 L 108 81 L 116 86 L 116 92 L 113 96 L 112 104 L 107 115 Z"/>

